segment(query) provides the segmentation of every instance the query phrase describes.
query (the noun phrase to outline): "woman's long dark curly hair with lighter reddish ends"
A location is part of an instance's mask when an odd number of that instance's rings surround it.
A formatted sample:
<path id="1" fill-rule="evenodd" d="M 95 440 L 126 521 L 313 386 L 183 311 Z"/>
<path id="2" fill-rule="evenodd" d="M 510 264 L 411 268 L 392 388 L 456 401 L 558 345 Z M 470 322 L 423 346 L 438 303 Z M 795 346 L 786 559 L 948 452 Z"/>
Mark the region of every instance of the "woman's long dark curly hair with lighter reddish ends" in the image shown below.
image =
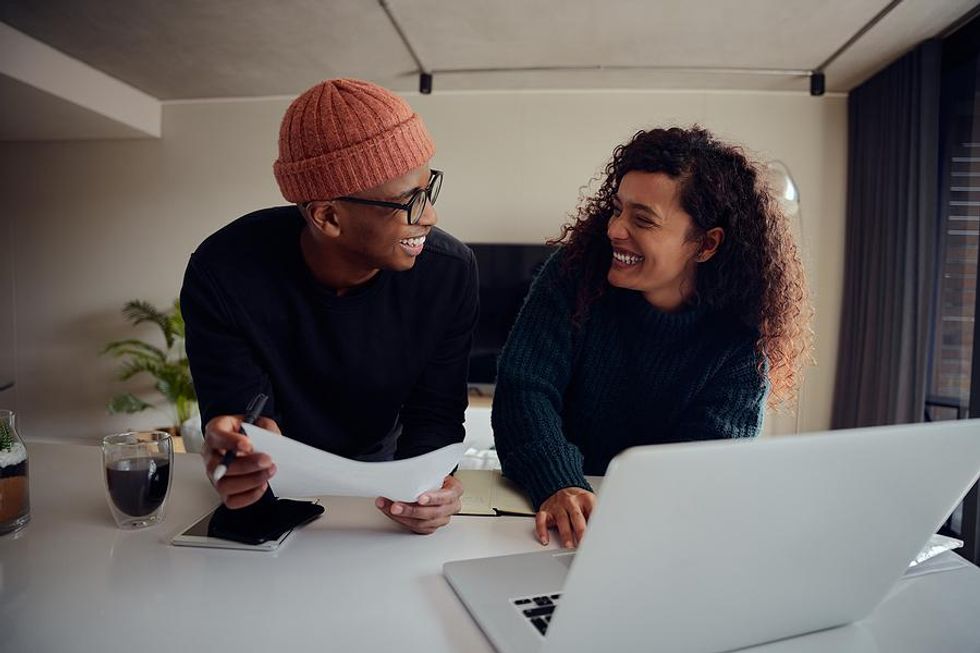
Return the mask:
<path id="1" fill-rule="evenodd" d="M 574 324 L 582 324 L 609 286 L 612 245 L 606 229 L 613 197 L 631 171 L 660 172 L 678 182 L 680 204 L 693 222 L 689 239 L 724 229 L 715 256 L 697 267 L 695 299 L 759 334 L 756 351 L 759 372 L 770 383 L 769 406 L 788 405 L 813 351 L 813 308 L 799 250 L 760 165 L 697 125 L 639 131 L 619 145 L 599 191 L 580 202 L 561 235 L 549 242 L 565 250 L 563 274 L 581 281 Z"/>

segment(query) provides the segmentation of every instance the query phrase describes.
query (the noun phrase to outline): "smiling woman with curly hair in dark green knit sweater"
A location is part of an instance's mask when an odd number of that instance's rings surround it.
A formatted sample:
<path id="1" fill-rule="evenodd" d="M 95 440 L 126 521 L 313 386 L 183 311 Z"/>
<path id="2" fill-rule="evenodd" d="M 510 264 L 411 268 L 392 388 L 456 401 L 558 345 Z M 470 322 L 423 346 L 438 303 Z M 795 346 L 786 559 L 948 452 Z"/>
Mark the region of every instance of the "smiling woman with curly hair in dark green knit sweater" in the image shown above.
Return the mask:
<path id="1" fill-rule="evenodd" d="M 699 127 L 638 132 L 552 244 L 501 354 L 493 429 L 542 544 L 634 445 L 754 437 L 812 349 L 803 266 L 759 168 Z"/>

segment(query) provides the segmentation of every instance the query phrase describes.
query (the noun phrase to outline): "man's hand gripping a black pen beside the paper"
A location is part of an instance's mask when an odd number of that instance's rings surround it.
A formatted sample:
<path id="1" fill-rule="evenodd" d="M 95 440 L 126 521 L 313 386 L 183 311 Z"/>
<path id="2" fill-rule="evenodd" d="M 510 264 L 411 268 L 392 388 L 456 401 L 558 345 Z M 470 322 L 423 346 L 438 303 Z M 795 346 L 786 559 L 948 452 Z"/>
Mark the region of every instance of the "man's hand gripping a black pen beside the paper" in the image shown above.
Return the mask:
<path id="1" fill-rule="evenodd" d="M 225 451 L 237 451 L 224 477 L 214 483 L 221 495 L 221 502 L 232 509 L 244 508 L 258 501 L 269 487 L 269 479 L 276 473 L 272 458 L 264 453 L 255 453 L 251 440 L 238 432 L 243 418 L 243 415 L 213 418 L 204 430 L 204 447 L 201 449 L 208 479 L 214 478 L 214 468 L 221 462 Z M 268 417 L 260 417 L 255 425 L 282 434 L 279 425 Z"/>

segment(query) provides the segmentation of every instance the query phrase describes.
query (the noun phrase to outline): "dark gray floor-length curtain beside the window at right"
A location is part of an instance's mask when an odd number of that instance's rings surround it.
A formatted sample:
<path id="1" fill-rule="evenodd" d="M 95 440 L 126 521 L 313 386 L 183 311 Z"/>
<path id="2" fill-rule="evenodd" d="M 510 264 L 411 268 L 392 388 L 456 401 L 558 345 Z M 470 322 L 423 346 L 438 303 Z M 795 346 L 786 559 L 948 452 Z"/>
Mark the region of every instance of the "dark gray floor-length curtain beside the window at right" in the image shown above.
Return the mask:
<path id="1" fill-rule="evenodd" d="M 833 428 L 923 419 L 940 228 L 941 57 L 941 42 L 926 41 L 848 98 Z"/>

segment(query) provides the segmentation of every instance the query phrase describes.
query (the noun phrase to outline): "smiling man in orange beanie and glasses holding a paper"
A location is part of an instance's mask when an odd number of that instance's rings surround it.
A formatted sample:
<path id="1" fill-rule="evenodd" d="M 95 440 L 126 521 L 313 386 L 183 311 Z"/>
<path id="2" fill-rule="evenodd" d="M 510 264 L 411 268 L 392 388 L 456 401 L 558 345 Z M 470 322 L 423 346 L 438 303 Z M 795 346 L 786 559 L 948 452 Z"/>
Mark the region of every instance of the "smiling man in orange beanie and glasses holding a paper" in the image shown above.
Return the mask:
<path id="1" fill-rule="evenodd" d="M 191 256 L 181 290 L 205 426 L 202 456 L 228 508 L 255 503 L 273 461 L 239 434 L 257 393 L 263 428 L 363 461 L 463 439 L 477 316 L 472 252 L 435 228 L 442 173 L 397 95 L 328 80 L 286 110 L 276 181 L 292 206 L 248 214 Z M 377 506 L 417 533 L 459 511 L 462 486 Z"/>

